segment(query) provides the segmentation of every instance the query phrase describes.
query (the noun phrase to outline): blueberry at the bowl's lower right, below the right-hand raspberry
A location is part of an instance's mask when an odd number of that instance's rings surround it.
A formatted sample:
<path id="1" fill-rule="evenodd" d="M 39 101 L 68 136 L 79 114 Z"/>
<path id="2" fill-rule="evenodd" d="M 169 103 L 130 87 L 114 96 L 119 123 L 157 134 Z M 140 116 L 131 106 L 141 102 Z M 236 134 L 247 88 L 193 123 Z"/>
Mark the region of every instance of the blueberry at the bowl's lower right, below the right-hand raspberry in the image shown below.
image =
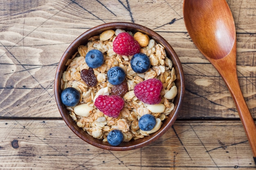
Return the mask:
<path id="1" fill-rule="evenodd" d="M 153 115 L 146 114 L 139 119 L 139 128 L 144 131 L 152 130 L 155 127 L 156 120 Z"/>

